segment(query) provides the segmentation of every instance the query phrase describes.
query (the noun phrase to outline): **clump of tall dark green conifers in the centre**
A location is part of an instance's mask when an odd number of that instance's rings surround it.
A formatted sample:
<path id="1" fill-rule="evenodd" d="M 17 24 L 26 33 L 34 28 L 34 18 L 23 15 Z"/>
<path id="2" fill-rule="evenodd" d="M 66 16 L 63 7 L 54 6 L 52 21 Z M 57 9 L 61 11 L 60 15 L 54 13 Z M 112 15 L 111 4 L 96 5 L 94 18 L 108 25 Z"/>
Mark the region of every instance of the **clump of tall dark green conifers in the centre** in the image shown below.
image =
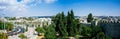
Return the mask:
<path id="1" fill-rule="evenodd" d="M 55 23 L 55 30 L 60 34 L 60 36 L 75 36 L 80 34 L 80 23 L 79 19 L 74 18 L 74 12 L 71 10 L 68 15 L 65 16 L 64 12 L 58 13 L 52 18 L 53 23 Z"/>

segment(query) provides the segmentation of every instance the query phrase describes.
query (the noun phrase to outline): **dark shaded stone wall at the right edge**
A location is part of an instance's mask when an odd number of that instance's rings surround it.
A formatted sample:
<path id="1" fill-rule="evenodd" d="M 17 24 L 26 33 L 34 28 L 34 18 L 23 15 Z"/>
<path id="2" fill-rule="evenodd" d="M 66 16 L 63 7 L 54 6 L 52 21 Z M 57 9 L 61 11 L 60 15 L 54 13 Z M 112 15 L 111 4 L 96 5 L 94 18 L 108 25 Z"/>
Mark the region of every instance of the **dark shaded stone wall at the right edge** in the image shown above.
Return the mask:
<path id="1" fill-rule="evenodd" d="M 100 21 L 98 23 L 106 35 L 113 39 L 120 39 L 120 21 Z"/>

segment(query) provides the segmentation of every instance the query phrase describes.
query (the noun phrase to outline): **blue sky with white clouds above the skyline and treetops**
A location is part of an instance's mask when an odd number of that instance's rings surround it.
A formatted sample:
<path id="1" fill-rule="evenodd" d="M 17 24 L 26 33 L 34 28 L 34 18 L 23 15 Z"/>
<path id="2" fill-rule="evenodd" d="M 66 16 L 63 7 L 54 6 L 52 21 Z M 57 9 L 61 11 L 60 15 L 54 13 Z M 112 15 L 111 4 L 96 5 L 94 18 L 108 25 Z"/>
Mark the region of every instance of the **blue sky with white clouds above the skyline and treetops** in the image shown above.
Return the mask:
<path id="1" fill-rule="evenodd" d="M 0 0 L 0 16 L 120 16 L 120 0 Z"/>

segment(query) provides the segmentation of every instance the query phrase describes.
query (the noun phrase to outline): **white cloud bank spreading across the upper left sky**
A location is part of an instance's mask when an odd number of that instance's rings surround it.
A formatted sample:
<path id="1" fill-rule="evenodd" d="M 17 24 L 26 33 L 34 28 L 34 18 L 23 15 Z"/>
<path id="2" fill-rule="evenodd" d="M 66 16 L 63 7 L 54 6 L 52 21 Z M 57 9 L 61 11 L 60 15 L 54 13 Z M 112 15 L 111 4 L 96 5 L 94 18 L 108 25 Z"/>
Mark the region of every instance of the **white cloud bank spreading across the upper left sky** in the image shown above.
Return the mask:
<path id="1" fill-rule="evenodd" d="M 0 12 L 2 11 L 15 15 L 25 14 L 28 12 L 28 7 L 30 7 L 30 5 L 36 6 L 43 2 L 53 3 L 55 1 L 57 0 L 22 0 L 21 2 L 17 0 L 0 0 Z"/>

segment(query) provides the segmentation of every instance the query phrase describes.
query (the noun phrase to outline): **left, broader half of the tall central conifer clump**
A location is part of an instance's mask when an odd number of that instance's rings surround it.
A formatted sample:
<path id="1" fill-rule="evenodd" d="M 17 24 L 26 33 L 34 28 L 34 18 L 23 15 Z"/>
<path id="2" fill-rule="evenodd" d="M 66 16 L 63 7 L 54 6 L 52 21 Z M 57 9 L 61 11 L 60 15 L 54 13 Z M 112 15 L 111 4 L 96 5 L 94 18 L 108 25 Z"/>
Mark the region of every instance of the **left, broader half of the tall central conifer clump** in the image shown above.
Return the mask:
<path id="1" fill-rule="evenodd" d="M 60 36 L 67 36 L 67 26 L 66 26 L 66 17 L 64 15 L 64 12 L 61 12 L 57 14 L 53 18 L 53 22 L 55 23 L 55 31 L 60 34 Z"/>

